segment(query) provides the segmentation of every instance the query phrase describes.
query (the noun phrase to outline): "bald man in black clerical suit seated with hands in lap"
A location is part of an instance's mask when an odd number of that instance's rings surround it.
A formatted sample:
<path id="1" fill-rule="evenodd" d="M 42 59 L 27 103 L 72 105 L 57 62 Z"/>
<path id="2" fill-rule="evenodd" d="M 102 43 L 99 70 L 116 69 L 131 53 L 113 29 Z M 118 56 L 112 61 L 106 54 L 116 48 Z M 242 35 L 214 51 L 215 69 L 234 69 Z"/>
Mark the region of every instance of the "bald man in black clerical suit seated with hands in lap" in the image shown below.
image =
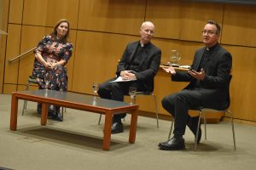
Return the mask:
<path id="1" fill-rule="evenodd" d="M 100 85 L 98 94 L 104 99 L 124 100 L 130 87 L 136 87 L 140 92 L 153 92 L 154 76 L 160 66 L 160 48 L 151 43 L 154 34 L 154 24 L 150 21 L 143 22 L 140 28 L 140 40 L 129 43 L 117 66 L 116 77 L 103 82 Z M 117 77 L 127 82 L 112 82 Z M 124 131 L 121 118 L 124 114 L 113 116 L 111 133 L 122 133 Z"/>

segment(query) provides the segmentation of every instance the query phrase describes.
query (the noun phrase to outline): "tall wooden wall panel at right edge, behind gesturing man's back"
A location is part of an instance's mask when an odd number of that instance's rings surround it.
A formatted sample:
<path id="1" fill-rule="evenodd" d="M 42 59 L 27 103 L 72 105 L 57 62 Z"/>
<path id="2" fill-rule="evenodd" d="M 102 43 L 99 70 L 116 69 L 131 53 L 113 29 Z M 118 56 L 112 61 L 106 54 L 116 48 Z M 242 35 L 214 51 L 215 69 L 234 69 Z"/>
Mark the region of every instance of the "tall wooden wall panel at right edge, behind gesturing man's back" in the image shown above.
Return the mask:
<path id="1" fill-rule="evenodd" d="M 230 109 L 238 119 L 256 121 L 256 49 L 225 46 L 233 55 Z"/>

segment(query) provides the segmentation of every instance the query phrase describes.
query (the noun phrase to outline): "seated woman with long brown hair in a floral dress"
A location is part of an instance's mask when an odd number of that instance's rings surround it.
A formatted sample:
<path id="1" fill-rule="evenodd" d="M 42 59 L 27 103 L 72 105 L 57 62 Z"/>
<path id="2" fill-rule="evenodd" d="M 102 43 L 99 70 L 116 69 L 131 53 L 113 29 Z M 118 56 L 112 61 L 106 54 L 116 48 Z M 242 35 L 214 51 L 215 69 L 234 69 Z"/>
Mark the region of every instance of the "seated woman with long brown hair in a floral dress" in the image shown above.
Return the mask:
<path id="1" fill-rule="evenodd" d="M 39 89 L 67 91 L 67 64 L 73 53 L 73 44 L 67 41 L 69 22 L 60 20 L 54 31 L 45 36 L 34 50 L 35 60 L 32 76 L 38 81 Z M 45 83 L 45 75 L 49 77 L 49 85 Z M 38 104 L 38 113 L 42 105 Z M 49 107 L 49 116 L 56 121 L 62 121 L 60 107 Z"/>

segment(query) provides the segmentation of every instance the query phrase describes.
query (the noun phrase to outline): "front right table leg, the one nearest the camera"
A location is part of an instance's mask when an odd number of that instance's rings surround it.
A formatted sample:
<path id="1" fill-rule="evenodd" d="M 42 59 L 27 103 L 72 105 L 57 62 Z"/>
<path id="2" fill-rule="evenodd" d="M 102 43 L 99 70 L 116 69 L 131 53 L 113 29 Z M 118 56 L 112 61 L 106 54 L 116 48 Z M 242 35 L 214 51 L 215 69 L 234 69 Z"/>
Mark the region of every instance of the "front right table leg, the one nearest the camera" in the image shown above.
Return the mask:
<path id="1" fill-rule="evenodd" d="M 112 117 L 113 117 L 112 112 L 107 112 L 105 115 L 102 150 L 109 150 L 110 139 L 111 139 Z"/>

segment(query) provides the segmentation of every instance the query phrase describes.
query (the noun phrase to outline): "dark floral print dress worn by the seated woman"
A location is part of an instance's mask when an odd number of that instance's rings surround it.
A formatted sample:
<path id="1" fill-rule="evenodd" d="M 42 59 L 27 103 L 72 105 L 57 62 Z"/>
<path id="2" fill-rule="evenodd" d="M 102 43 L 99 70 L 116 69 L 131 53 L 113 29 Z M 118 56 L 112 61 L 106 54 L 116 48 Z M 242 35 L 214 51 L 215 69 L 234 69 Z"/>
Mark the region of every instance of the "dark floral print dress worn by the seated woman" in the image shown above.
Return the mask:
<path id="1" fill-rule="evenodd" d="M 41 54 L 46 62 L 56 63 L 61 59 L 67 61 L 73 53 L 73 44 L 71 42 L 60 42 L 54 40 L 51 36 L 45 36 L 39 43 L 34 53 Z M 67 68 L 62 65 L 56 66 L 53 70 L 46 70 L 43 64 L 38 59 L 34 60 L 34 68 L 32 76 L 36 77 L 40 89 L 45 89 L 44 81 L 45 74 L 49 74 L 48 89 L 56 91 L 67 91 Z"/>

